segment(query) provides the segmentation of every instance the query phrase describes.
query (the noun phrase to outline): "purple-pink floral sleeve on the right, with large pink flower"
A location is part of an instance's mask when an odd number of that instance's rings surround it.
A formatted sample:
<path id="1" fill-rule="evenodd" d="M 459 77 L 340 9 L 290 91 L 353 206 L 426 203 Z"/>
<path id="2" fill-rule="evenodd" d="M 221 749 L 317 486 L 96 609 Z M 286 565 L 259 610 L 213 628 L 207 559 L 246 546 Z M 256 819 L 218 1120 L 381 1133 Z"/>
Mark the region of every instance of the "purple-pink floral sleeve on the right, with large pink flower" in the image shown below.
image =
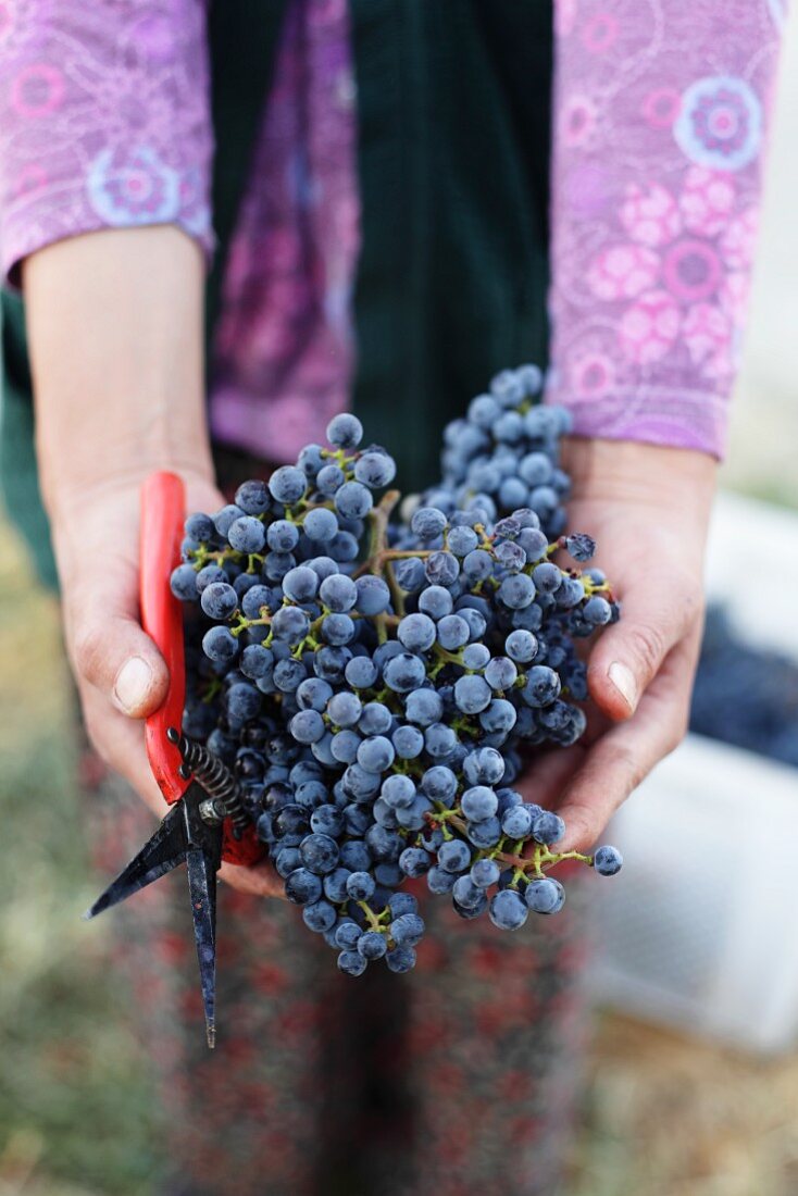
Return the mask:
<path id="1" fill-rule="evenodd" d="M 549 393 L 720 456 L 786 0 L 558 0 Z"/>

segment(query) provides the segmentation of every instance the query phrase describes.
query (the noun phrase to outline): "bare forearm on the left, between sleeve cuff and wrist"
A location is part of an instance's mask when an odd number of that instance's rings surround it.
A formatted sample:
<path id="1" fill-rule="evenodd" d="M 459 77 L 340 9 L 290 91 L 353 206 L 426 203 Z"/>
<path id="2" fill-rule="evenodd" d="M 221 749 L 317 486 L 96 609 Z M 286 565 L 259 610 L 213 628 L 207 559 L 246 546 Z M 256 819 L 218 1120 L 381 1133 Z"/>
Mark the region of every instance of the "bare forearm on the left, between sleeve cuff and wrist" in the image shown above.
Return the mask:
<path id="1" fill-rule="evenodd" d="M 211 477 L 201 250 L 172 226 L 59 242 L 23 266 L 44 502 L 171 468 Z"/>

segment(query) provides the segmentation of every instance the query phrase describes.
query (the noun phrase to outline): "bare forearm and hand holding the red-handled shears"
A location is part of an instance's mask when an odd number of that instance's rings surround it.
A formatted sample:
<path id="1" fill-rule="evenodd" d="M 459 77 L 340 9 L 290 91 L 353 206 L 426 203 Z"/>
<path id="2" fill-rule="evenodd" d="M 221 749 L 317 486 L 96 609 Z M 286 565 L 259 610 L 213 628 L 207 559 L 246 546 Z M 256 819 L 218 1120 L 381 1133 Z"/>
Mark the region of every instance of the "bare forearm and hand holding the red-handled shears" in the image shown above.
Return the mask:
<path id="1" fill-rule="evenodd" d="M 139 622 L 139 488 L 169 469 L 189 509 L 224 502 L 206 429 L 201 255 L 166 226 L 90 233 L 33 254 L 24 285 L 42 492 L 86 728 L 163 816 L 141 720 L 169 675 Z M 220 874 L 242 892 L 281 891 L 266 866 Z"/>

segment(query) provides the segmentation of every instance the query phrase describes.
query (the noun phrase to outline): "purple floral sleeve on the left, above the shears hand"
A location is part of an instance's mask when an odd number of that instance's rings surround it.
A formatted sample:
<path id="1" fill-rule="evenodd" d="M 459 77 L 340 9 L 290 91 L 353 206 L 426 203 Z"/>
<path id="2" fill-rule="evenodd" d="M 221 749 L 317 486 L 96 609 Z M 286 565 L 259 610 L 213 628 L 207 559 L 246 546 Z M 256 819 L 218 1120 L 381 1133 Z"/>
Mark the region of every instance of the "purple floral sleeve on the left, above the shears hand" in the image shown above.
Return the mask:
<path id="1" fill-rule="evenodd" d="M 0 0 L 0 266 L 108 226 L 211 245 L 203 0 Z"/>

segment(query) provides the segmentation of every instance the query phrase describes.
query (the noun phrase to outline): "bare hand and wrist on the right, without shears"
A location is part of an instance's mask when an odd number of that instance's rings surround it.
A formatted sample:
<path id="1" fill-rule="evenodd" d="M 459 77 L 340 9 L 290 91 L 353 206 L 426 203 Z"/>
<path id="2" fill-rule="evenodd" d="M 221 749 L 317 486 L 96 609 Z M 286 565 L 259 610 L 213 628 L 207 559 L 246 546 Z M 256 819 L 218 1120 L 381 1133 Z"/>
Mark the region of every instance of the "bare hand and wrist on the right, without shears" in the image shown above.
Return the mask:
<path id="1" fill-rule="evenodd" d="M 524 788 L 556 804 L 558 849 L 589 849 L 610 816 L 688 726 L 703 626 L 703 551 L 715 482 L 705 453 L 631 441 L 566 447 L 568 526 L 598 543 L 596 563 L 621 602 L 589 657 L 595 709 L 585 739 L 543 757 Z"/>

